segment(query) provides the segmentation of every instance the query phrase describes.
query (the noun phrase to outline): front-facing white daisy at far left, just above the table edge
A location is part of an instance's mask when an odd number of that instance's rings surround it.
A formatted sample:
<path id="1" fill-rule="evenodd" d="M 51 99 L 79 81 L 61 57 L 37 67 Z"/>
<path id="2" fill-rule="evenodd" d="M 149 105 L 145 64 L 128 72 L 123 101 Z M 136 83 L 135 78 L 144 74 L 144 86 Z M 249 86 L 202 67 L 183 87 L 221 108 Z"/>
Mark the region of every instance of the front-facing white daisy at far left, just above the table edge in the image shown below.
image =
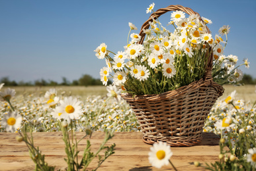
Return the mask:
<path id="1" fill-rule="evenodd" d="M 7 132 L 15 132 L 21 127 L 22 116 L 17 112 L 8 112 L 4 114 L 1 124 L 5 127 Z"/>

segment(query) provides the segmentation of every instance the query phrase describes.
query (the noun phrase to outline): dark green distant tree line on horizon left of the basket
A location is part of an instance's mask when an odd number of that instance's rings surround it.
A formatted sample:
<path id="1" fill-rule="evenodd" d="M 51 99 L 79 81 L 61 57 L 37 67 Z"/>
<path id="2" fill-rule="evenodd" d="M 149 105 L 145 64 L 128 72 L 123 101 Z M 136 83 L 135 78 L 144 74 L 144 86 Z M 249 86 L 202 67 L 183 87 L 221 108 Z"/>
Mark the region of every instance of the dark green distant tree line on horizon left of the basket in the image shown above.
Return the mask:
<path id="1" fill-rule="evenodd" d="M 5 83 L 5 86 L 57 86 L 57 85 L 103 85 L 100 79 L 95 79 L 92 76 L 88 74 L 84 74 L 79 78 L 79 80 L 73 80 L 72 82 L 69 82 L 67 78 L 62 77 L 62 82 L 58 83 L 53 80 L 35 80 L 34 82 L 15 82 L 13 80 L 10 80 L 9 77 L 3 77 L 0 80 L 0 83 Z M 112 84 L 111 81 L 108 81 L 108 84 Z"/>

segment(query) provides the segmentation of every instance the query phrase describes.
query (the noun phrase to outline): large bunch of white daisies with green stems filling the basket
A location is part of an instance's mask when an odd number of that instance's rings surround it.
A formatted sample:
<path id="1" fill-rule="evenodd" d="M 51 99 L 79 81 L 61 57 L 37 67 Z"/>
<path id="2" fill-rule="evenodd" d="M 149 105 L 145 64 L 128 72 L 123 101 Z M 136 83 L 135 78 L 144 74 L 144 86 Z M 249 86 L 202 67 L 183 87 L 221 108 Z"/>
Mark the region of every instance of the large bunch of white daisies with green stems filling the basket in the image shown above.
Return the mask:
<path id="1" fill-rule="evenodd" d="M 155 14 L 154 5 L 151 4 L 146 12 Z M 235 67 L 238 58 L 235 55 L 224 56 L 230 26 L 223 26 L 218 35 L 212 36 L 206 26 L 212 21 L 198 14 L 186 17 L 183 11 L 173 11 L 166 25 L 174 32 L 162 26 L 159 18 L 151 19 L 150 27 L 143 29 L 146 34 L 144 40 L 140 34 L 131 34 L 132 30 L 138 29 L 129 22 L 127 45 L 122 51 L 113 53 L 105 43 L 95 49 L 96 56 L 105 59 L 107 64 L 100 72 L 103 85 L 112 79 L 114 85 L 133 95 L 175 90 L 200 80 L 212 53 L 214 82 L 220 85 L 239 84 L 243 73 L 238 67 L 242 64 Z M 243 64 L 249 67 L 247 59 Z"/>

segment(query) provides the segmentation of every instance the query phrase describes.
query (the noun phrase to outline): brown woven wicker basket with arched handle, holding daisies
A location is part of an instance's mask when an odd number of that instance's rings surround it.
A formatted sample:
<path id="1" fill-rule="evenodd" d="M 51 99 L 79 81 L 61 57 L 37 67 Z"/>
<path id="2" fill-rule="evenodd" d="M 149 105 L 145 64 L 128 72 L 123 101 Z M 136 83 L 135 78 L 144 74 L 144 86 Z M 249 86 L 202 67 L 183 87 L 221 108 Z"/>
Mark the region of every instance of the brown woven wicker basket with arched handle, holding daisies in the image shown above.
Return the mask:
<path id="1" fill-rule="evenodd" d="M 198 14 L 181 5 L 170 5 L 155 12 L 157 17 L 168 11 L 183 11 Z M 155 14 L 151 14 L 153 18 Z M 140 31 L 143 43 L 143 29 L 149 28 L 149 18 Z M 208 30 L 208 32 L 210 32 Z M 202 128 L 212 106 L 224 89 L 212 80 L 213 55 L 209 55 L 206 72 L 200 80 L 173 91 L 157 95 L 136 95 L 124 93 L 122 98 L 134 110 L 143 132 L 143 141 L 153 144 L 163 141 L 171 146 L 191 146 L 202 140 Z"/>

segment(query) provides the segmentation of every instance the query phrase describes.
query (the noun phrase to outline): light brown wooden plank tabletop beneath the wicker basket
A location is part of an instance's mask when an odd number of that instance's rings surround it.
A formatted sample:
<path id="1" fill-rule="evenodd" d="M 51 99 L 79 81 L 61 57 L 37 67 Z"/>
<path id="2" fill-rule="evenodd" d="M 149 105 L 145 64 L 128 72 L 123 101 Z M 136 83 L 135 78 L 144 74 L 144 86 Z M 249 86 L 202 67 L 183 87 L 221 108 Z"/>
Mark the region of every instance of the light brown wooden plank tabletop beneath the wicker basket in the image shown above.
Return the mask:
<path id="1" fill-rule="evenodd" d="M 0 170 L 34 170 L 34 162 L 29 157 L 28 149 L 24 142 L 17 142 L 15 137 L 17 133 L 0 133 Z M 85 135 L 84 132 L 76 132 L 77 139 Z M 204 170 L 196 168 L 194 161 L 201 164 L 205 162 L 214 162 L 218 160 L 220 147 L 219 138 L 212 133 L 203 133 L 203 140 L 200 144 L 192 147 L 171 147 L 173 156 L 171 161 L 177 170 Z M 57 169 L 64 170 L 67 166 L 64 158 L 65 149 L 62 140 L 62 132 L 36 132 L 33 133 L 34 144 L 39 147 L 43 155 L 46 155 L 46 161 L 50 166 L 56 166 Z M 97 151 L 102 143 L 105 133 L 94 132 L 91 137 L 91 151 Z M 173 170 L 171 164 L 163 166 L 161 169 L 151 166 L 148 160 L 149 148 L 142 141 L 141 132 L 116 132 L 114 137 L 108 141 L 107 145 L 116 143 L 114 155 L 108 157 L 98 170 Z M 86 139 L 79 143 L 80 153 L 86 146 Z M 103 153 L 100 153 L 103 154 Z M 89 165 L 89 170 L 95 168 L 97 160 Z"/>

